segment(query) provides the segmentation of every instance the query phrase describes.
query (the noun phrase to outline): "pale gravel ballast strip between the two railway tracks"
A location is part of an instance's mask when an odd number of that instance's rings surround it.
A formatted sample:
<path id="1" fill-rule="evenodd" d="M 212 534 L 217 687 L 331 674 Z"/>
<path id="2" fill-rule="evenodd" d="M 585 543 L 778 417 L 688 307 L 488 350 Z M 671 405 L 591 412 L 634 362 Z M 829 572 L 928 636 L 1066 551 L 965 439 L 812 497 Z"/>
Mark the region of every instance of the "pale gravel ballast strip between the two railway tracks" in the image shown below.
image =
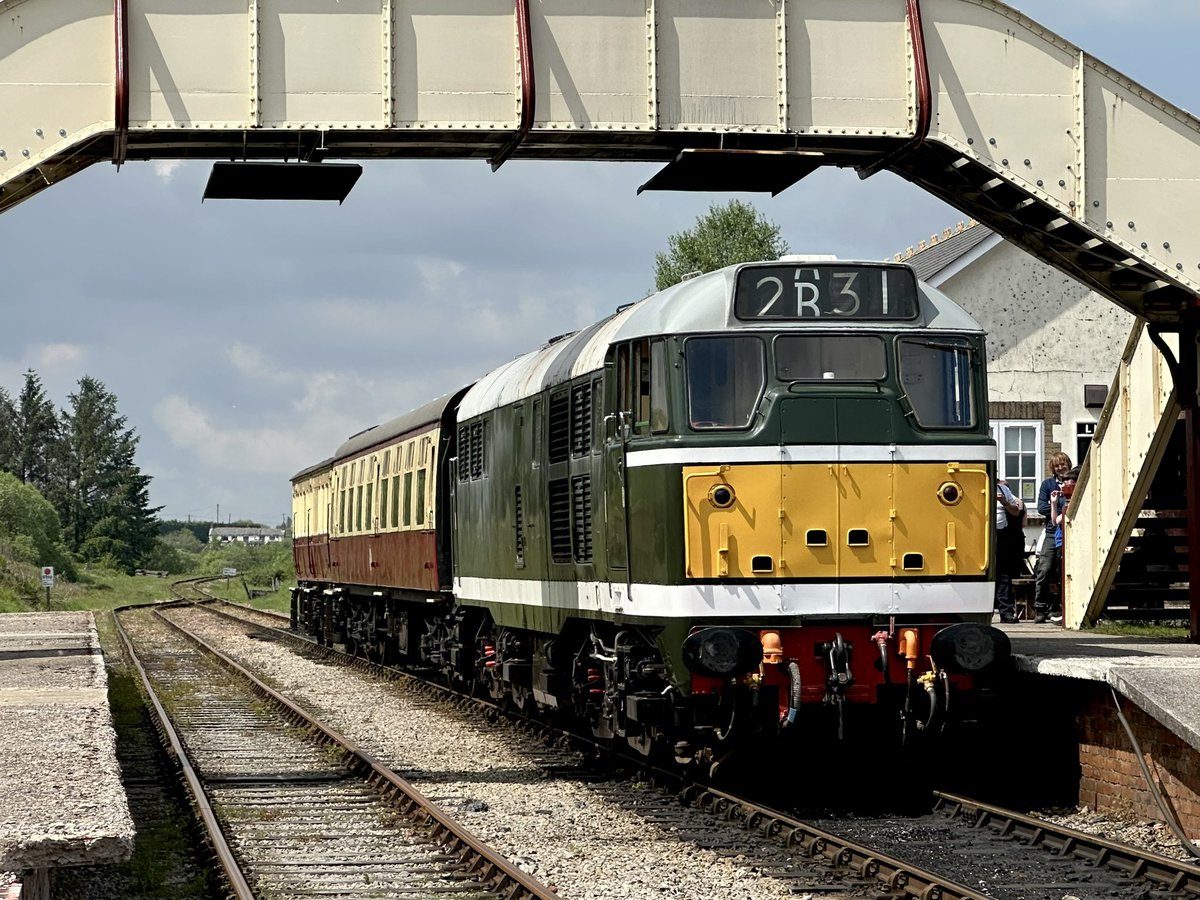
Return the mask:
<path id="1" fill-rule="evenodd" d="M 721 853 L 665 832 L 638 816 L 637 786 L 618 805 L 611 785 L 546 780 L 521 751 L 522 738 L 506 726 L 468 721 L 433 708 L 396 684 L 376 682 L 350 670 L 314 662 L 286 647 L 230 631 L 228 624 L 198 611 L 172 618 L 211 638 L 230 655 L 253 661 L 283 692 L 308 706 L 364 750 L 410 779 L 485 841 L 503 850 L 572 900 L 704 898 L 845 898 L 796 894 L 794 882 L 763 870 L 779 865 L 776 852 L 763 858 L 737 852 L 748 838 L 728 827 Z M 646 790 L 646 805 L 658 794 Z"/>

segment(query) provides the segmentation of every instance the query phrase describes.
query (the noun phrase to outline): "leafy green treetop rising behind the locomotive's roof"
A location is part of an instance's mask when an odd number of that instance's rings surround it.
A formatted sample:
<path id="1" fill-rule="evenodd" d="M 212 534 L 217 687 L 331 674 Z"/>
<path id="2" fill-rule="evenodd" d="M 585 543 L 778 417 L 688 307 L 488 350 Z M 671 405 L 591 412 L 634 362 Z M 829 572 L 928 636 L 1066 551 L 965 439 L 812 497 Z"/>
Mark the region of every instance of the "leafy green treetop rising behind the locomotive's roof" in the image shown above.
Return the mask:
<path id="1" fill-rule="evenodd" d="M 664 290 L 692 272 L 779 259 L 786 252 L 787 241 L 780 236 L 779 226 L 754 206 L 742 200 L 724 206 L 714 203 L 707 215 L 696 220 L 695 228 L 672 234 L 667 252 L 654 256 L 654 287 Z"/>

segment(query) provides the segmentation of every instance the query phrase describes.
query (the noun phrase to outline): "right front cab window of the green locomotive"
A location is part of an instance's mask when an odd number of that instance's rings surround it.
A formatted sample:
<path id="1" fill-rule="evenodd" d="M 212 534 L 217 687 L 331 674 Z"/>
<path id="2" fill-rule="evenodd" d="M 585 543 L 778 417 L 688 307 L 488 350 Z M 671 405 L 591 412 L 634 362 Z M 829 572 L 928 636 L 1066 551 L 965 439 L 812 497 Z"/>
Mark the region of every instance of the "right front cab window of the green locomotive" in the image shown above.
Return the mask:
<path id="1" fill-rule="evenodd" d="M 923 428 L 976 424 L 976 355 L 964 337 L 901 337 L 900 384 Z"/>

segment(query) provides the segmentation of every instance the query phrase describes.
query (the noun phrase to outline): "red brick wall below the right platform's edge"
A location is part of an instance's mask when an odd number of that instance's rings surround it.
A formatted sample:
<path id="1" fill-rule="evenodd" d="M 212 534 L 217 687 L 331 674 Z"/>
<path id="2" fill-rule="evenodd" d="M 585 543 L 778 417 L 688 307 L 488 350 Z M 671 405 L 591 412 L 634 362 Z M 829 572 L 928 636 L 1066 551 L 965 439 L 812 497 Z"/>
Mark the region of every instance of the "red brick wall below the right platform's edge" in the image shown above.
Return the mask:
<path id="1" fill-rule="evenodd" d="M 1124 697 L 1121 710 L 1184 830 L 1200 834 L 1200 754 Z M 1162 820 L 1105 685 L 1088 685 L 1078 725 L 1079 803 L 1099 812 Z"/>

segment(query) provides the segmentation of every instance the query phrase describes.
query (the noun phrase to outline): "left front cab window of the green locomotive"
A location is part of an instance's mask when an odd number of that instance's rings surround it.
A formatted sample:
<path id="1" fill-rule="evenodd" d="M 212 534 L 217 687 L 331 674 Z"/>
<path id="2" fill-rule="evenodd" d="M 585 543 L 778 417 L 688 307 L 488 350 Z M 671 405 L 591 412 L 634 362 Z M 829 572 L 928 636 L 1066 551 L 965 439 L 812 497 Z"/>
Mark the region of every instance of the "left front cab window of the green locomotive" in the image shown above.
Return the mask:
<path id="1" fill-rule="evenodd" d="M 767 380 L 757 337 L 692 337 L 684 344 L 692 428 L 745 428 Z"/>

